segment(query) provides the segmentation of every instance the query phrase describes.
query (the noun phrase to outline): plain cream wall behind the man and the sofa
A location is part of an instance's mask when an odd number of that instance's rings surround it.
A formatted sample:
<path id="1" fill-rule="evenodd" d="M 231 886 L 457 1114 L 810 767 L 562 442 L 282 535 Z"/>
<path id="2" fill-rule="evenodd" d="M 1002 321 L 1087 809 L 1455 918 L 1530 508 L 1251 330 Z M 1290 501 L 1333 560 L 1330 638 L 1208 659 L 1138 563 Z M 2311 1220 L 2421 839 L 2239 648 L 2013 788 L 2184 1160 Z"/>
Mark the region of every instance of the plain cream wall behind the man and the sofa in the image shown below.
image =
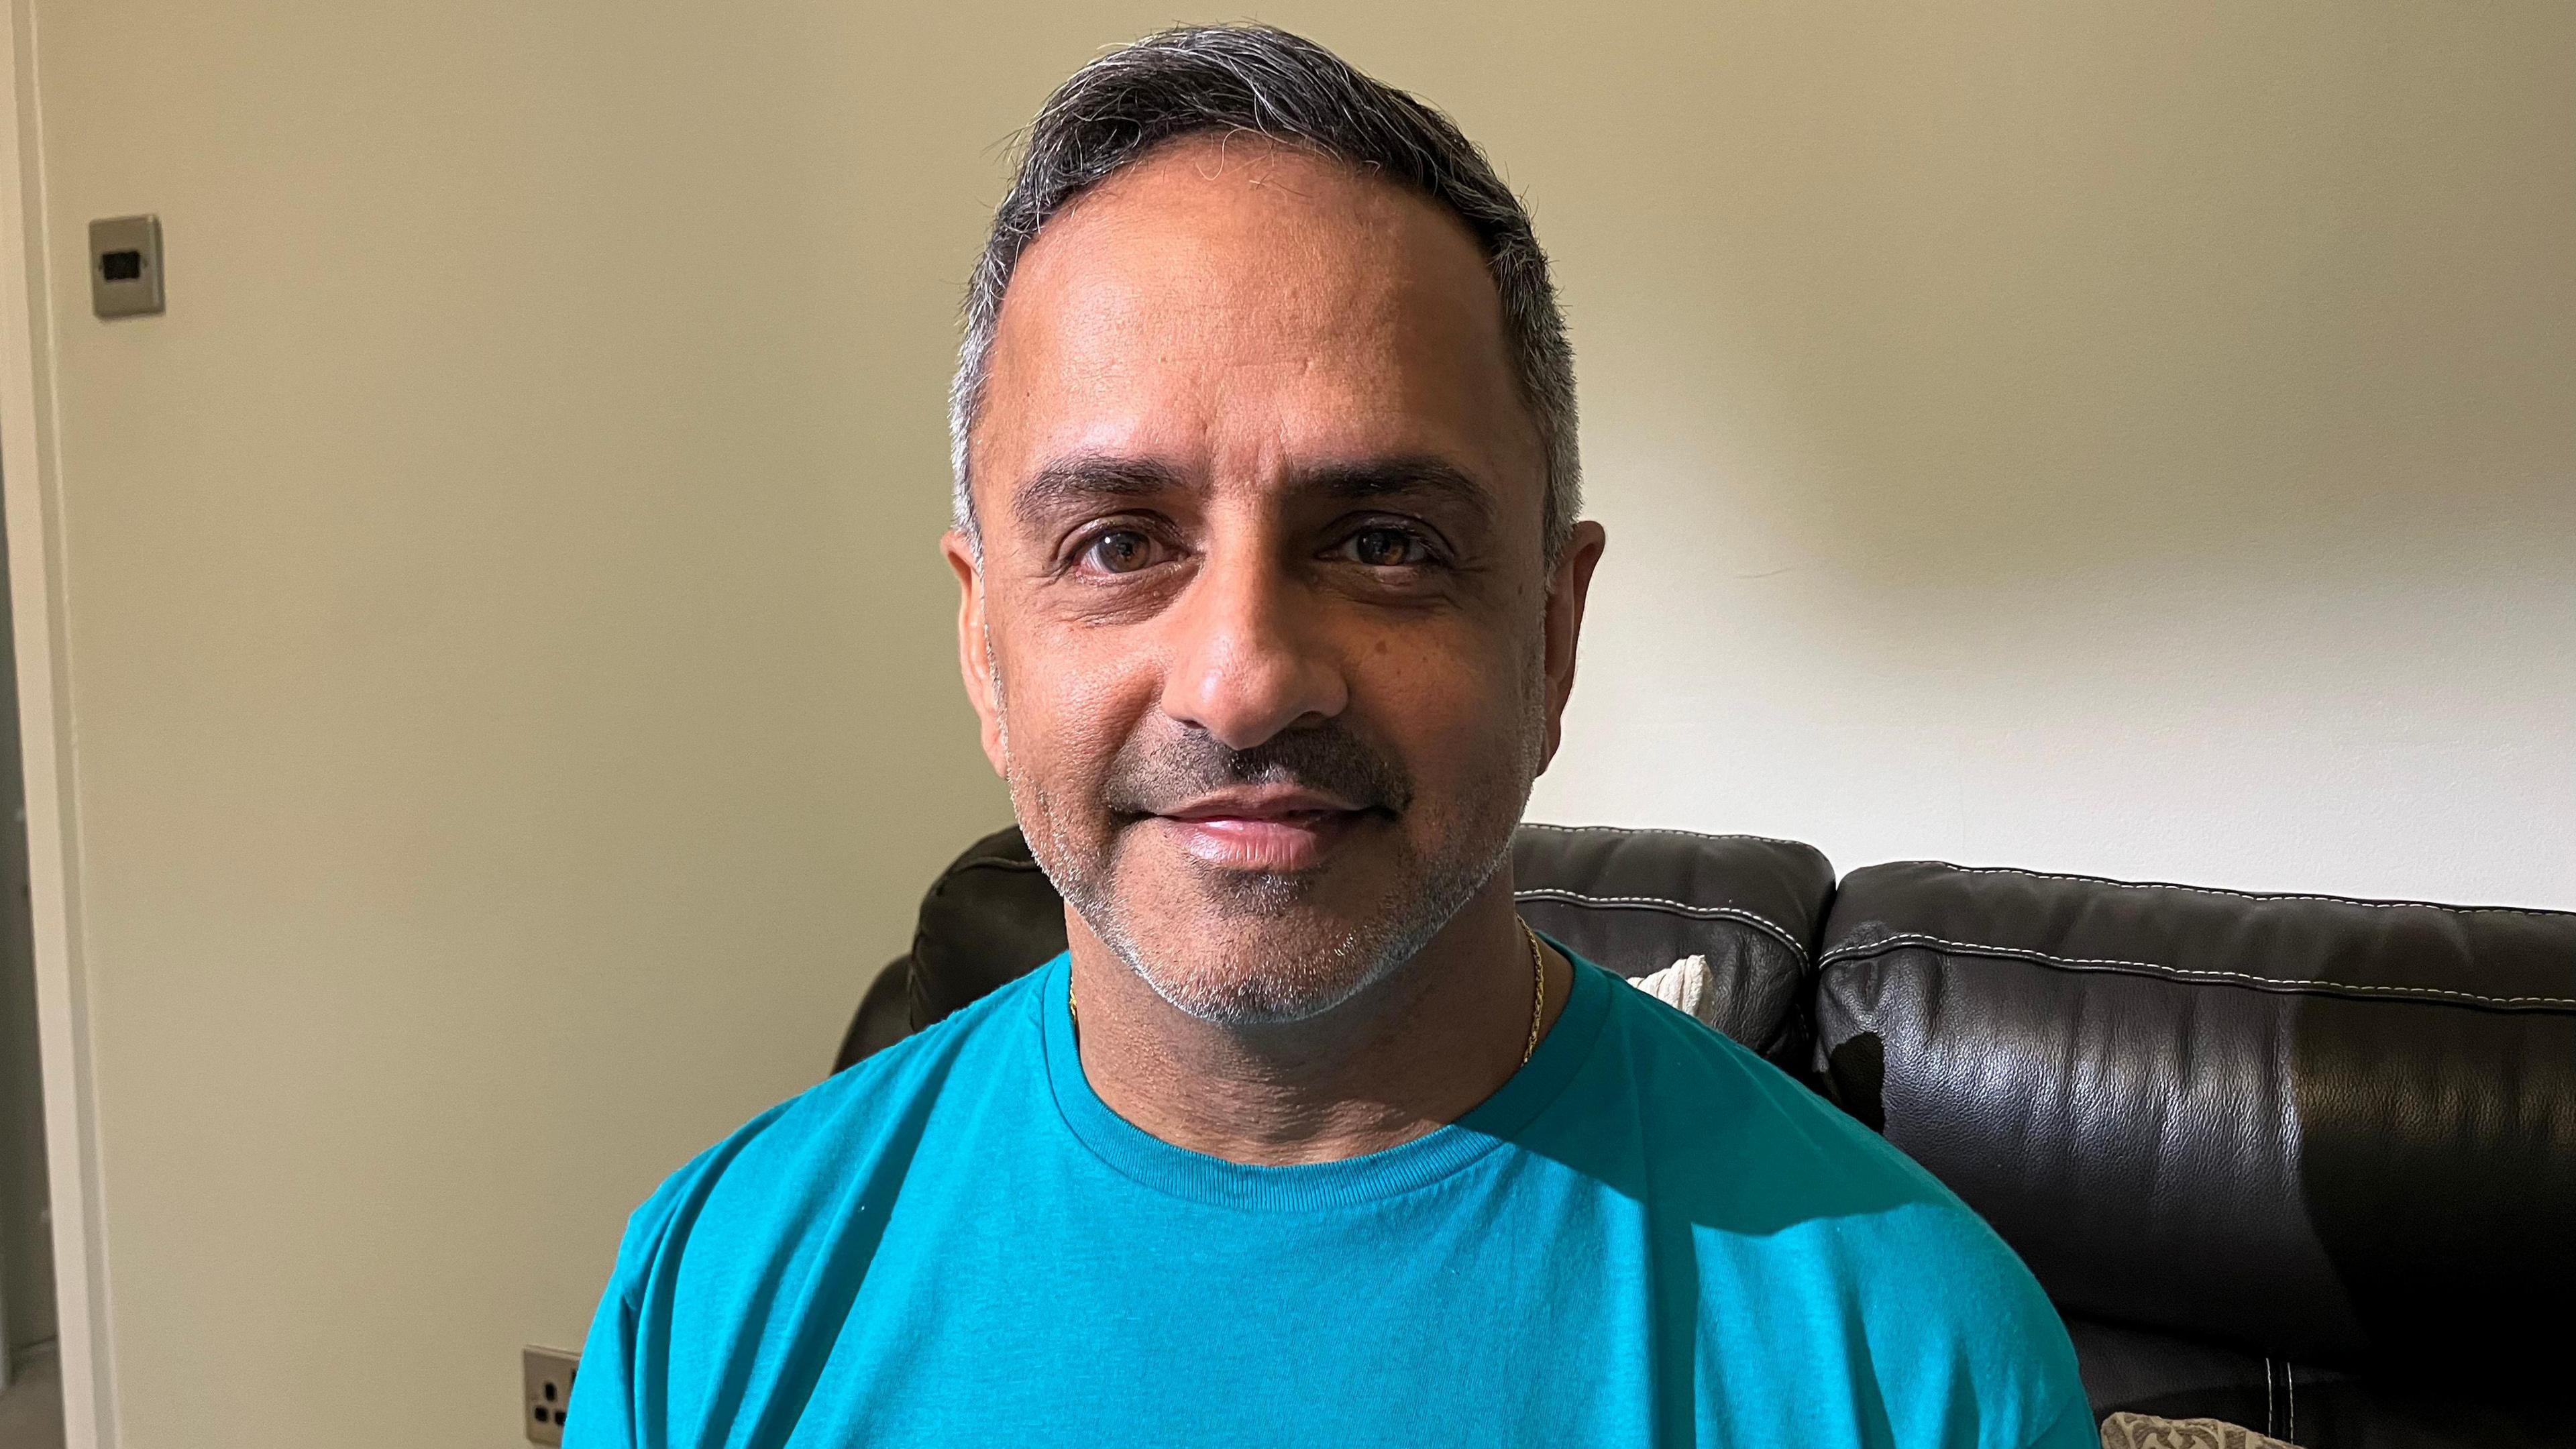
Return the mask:
<path id="1" fill-rule="evenodd" d="M 515 1444 L 1005 817 L 953 302 L 1172 15 L 21 5 L 124 1444 Z M 2568 10 L 1265 18 L 1558 255 L 1613 554 L 1540 815 L 2576 905 Z M 88 315 L 118 211 L 167 317 Z"/>

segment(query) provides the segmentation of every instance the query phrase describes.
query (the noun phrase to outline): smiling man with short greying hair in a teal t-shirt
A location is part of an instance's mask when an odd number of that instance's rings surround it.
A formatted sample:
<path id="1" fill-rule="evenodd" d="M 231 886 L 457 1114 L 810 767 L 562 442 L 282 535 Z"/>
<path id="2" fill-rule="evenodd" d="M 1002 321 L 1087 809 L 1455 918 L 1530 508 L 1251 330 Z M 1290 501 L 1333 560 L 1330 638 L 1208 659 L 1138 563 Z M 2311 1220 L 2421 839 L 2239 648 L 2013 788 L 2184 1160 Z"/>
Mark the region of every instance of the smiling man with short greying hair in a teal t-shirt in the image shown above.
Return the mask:
<path id="1" fill-rule="evenodd" d="M 1512 908 L 1602 529 L 1440 113 L 1113 52 L 966 322 L 958 652 L 1072 949 L 672 1176 L 574 1444 L 2094 1441 L 1965 1207 Z"/>

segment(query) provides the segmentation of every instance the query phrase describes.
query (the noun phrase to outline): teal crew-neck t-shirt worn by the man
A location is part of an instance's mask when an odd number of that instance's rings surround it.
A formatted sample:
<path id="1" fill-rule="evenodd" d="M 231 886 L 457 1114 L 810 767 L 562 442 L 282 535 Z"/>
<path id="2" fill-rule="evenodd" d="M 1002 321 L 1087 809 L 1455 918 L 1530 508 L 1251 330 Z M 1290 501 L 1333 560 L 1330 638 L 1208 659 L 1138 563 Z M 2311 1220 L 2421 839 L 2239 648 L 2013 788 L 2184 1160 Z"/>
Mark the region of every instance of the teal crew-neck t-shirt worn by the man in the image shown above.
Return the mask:
<path id="1" fill-rule="evenodd" d="M 1110 1111 L 1064 998 L 1056 957 L 662 1183 L 567 1444 L 2099 1444 L 1976 1214 L 1600 967 L 1458 1122 L 1288 1168 Z"/>

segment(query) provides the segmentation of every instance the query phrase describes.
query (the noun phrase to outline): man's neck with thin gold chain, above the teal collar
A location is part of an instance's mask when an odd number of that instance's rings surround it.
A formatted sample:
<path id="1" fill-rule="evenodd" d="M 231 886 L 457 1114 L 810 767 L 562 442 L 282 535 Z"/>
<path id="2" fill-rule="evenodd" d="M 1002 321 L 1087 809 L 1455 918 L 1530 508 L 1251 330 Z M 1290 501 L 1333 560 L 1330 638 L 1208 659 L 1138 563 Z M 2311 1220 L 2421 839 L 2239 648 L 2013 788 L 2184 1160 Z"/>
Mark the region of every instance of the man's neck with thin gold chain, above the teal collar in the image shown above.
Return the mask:
<path id="1" fill-rule="evenodd" d="M 1358 1158 L 1455 1122 L 1520 1070 L 1530 938 L 1510 866 L 1412 962 L 1309 1021 L 1213 1026 L 1162 1000 L 1066 910 L 1082 1073 L 1118 1116 L 1234 1163 Z M 1540 1031 L 1571 964 L 1543 951 Z"/>

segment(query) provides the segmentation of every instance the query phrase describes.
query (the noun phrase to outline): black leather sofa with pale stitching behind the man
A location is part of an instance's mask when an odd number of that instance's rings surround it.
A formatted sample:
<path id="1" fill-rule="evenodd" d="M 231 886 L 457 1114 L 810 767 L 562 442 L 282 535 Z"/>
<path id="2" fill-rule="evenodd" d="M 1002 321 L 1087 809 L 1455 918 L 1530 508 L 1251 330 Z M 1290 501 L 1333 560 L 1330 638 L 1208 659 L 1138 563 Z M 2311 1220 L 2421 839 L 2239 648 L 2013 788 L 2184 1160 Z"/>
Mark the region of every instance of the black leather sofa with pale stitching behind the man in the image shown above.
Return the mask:
<path id="1" fill-rule="evenodd" d="M 2576 913 L 1522 825 L 1522 913 L 1883 1132 L 2066 1315 L 2097 1415 L 2576 1446 Z M 1018 830 L 922 900 L 840 1065 L 1064 949 Z"/>

